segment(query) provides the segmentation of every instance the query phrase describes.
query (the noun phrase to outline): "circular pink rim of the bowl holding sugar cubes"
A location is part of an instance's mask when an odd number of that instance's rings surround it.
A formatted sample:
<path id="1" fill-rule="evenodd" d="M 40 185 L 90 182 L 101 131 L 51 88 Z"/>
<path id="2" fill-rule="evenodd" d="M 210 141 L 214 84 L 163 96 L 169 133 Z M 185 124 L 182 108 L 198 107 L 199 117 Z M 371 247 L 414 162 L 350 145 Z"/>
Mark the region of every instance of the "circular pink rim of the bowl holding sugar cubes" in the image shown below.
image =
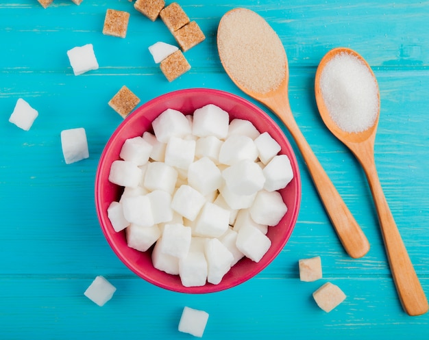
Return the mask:
<path id="1" fill-rule="evenodd" d="M 269 259 L 266 259 L 262 263 L 256 263 L 259 266 L 256 271 L 247 272 L 246 274 L 239 276 L 238 278 L 231 279 L 230 283 L 228 285 L 221 285 L 221 284 L 212 285 L 210 283 L 206 283 L 206 285 L 199 286 L 199 287 L 185 287 L 183 285 L 180 287 L 177 287 L 177 286 L 169 285 L 168 283 L 164 283 L 161 280 L 156 280 L 156 279 L 152 278 L 150 275 L 146 274 L 144 271 L 138 270 L 136 268 L 136 266 L 133 265 L 127 259 L 127 257 L 125 257 L 122 254 L 121 250 L 114 244 L 112 237 L 110 237 L 110 234 L 107 231 L 108 226 L 110 225 L 110 227 L 111 227 L 110 221 L 108 221 L 107 213 L 103 214 L 101 211 L 102 209 L 100 209 L 101 208 L 101 196 L 102 196 L 102 190 L 99 190 L 99 188 L 102 185 L 100 172 L 101 172 L 101 168 L 103 166 L 103 163 L 104 163 L 106 157 L 108 157 L 108 150 L 109 150 L 110 146 L 115 142 L 115 136 L 119 134 L 119 131 L 121 131 L 123 129 L 123 127 L 125 127 L 128 124 L 128 121 L 130 119 L 132 119 L 134 116 L 136 116 L 136 114 L 138 114 L 138 112 L 146 111 L 146 110 L 150 109 L 153 105 L 155 105 L 159 101 L 168 101 L 169 99 L 174 99 L 175 97 L 180 97 L 180 96 L 184 96 L 184 95 L 186 95 L 186 96 L 201 96 L 201 95 L 208 95 L 208 94 L 210 94 L 210 95 L 214 94 L 215 96 L 220 96 L 220 97 L 223 97 L 225 99 L 230 99 L 232 101 L 240 103 L 241 105 L 245 105 L 246 107 L 249 107 L 249 109 L 252 109 L 253 111 L 259 112 L 262 116 L 265 116 L 265 118 L 267 119 L 267 122 L 269 122 L 270 126 L 273 129 L 278 130 L 278 132 L 283 136 L 284 140 L 282 142 L 285 143 L 285 146 L 286 146 L 287 150 L 289 151 L 288 156 L 291 157 L 291 163 L 293 164 L 293 168 L 295 170 L 294 171 L 294 180 L 296 181 L 295 193 L 294 193 L 295 194 L 295 200 L 294 200 L 295 206 L 294 206 L 293 210 L 288 209 L 288 213 L 290 213 L 292 216 L 291 216 L 291 222 L 290 222 L 289 230 L 286 233 L 286 235 L 284 235 L 284 239 L 282 239 L 282 242 L 279 244 L 278 248 L 275 249 L 275 252 L 273 252 L 271 254 L 271 257 Z M 160 112 L 160 114 L 161 113 L 162 112 Z M 112 250 L 117 255 L 117 257 L 122 261 L 122 263 L 124 263 L 129 270 L 134 272 L 134 274 L 136 274 L 140 278 L 143 278 L 147 282 L 149 282 L 153 285 L 156 285 L 157 287 L 167 289 L 169 291 L 179 292 L 179 293 L 215 293 L 218 291 L 223 291 L 225 289 L 230 289 L 232 287 L 236 287 L 237 285 L 240 285 L 241 283 L 245 283 L 250 278 L 253 278 L 254 276 L 260 274 L 260 272 L 262 272 L 262 270 L 265 270 L 265 268 L 276 257 L 278 257 L 278 254 L 283 250 L 287 241 L 291 237 L 291 234 L 295 228 L 297 218 L 299 215 L 299 211 L 300 211 L 300 207 L 301 207 L 301 199 L 302 199 L 302 181 L 301 181 L 301 176 L 300 176 L 300 172 L 299 172 L 299 164 L 297 162 L 297 157 L 295 155 L 295 151 L 293 150 L 291 143 L 289 142 L 289 139 L 286 137 L 286 135 L 285 135 L 284 131 L 281 129 L 281 127 L 273 120 L 273 118 L 271 118 L 271 116 L 269 116 L 269 114 L 267 114 L 264 110 L 262 110 L 260 107 L 258 107 L 254 103 L 248 101 L 247 99 L 244 99 L 241 96 L 238 96 L 236 94 L 232 94 L 230 92 L 225 92 L 223 90 L 217 90 L 217 89 L 212 89 L 212 88 L 186 88 L 186 89 L 182 89 L 182 90 L 174 90 L 172 92 L 167 92 L 165 94 L 161 94 L 160 96 L 156 96 L 153 99 L 143 103 L 142 105 L 140 105 L 139 107 L 134 109 L 134 111 L 131 114 L 129 114 L 118 125 L 118 127 L 116 127 L 114 129 L 114 131 L 112 132 L 112 135 L 110 135 L 110 138 L 106 142 L 106 145 L 104 146 L 103 151 L 101 152 L 101 156 L 99 158 L 99 162 L 97 164 L 97 170 L 96 170 L 96 174 L 95 174 L 95 209 L 97 212 L 97 219 L 98 219 L 101 231 L 103 232 L 104 237 L 108 241 L 110 248 L 112 248 Z M 108 222 L 108 223 L 106 224 L 106 222 Z M 147 250 L 147 251 L 149 251 L 149 250 Z M 221 281 L 221 283 L 222 283 L 222 281 Z"/>

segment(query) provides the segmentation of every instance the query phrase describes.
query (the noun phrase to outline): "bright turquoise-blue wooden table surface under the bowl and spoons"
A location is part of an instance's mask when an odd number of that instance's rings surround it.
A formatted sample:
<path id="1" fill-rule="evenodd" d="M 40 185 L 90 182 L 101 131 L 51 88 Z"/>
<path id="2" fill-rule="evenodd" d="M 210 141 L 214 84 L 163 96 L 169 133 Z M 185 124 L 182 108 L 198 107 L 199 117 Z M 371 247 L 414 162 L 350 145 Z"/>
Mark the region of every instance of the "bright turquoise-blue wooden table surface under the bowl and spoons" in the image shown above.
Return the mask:
<path id="1" fill-rule="evenodd" d="M 185 53 L 191 70 L 169 83 L 148 47 L 175 40 L 160 19 L 149 21 L 128 0 L 55 0 L 47 9 L 36 0 L 0 0 L 0 339 L 191 339 L 177 331 L 184 306 L 210 314 L 204 339 L 428 339 L 429 314 L 410 317 L 402 310 L 365 174 L 319 118 L 313 81 L 334 47 L 354 49 L 373 68 L 381 99 L 376 166 L 428 296 L 429 2 L 177 2 L 206 40 Z M 228 291 L 173 293 L 130 272 L 99 228 L 95 171 L 122 120 L 107 103 L 123 85 L 142 103 L 198 87 L 254 102 L 230 81 L 217 55 L 217 25 L 236 7 L 258 12 L 278 32 L 289 57 L 297 123 L 371 250 L 362 259 L 344 252 L 292 143 L 302 206 L 278 258 Z M 108 8 L 130 12 L 126 38 L 101 33 Z M 66 51 L 87 43 L 100 67 L 76 77 Z M 19 98 L 39 112 L 29 131 L 8 122 Z M 60 131 L 75 127 L 86 129 L 90 157 L 66 165 Z M 297 261 L 317 255 L 323 278 L 301 282 Z M 83 295 L 97 275 L 117 287 L 103 307 Z M 328 281 L 347 298 L 325 313 L 311 294 Z"/>

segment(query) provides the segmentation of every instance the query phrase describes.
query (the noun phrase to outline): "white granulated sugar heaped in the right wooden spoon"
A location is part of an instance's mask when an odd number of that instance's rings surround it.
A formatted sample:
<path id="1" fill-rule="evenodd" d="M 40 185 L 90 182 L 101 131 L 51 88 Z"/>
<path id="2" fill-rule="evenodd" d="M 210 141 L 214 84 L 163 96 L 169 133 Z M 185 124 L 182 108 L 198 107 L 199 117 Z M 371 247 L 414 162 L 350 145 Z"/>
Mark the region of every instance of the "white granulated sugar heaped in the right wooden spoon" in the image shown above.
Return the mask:
<path id="1" fill-rule="evenodd" d="M 320 88 L 330 117 L 341 130 L 358 133 L 376 122 L 377 81 L 355 55 L 343 52 L 333 57 L 321 73 Z"/>

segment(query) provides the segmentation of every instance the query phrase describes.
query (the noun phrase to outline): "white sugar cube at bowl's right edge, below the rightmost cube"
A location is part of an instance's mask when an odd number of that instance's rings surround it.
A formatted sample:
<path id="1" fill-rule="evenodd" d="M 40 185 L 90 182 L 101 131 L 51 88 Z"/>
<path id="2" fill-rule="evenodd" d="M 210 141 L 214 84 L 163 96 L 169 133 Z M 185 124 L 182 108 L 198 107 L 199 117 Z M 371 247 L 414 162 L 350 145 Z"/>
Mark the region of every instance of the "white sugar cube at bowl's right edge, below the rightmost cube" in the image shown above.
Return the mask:
<path id="1" fill-rule="evenodd" d="M 282 220 L 287 212 L 287 207 L 283 202 L 279 192 L 267 192 L 260 190 L 256 194 L 256 198 L 252 207 L 250 207 L 250 215 L 252 219 L 259 224 L 267 224 L 275 226 Z"/>

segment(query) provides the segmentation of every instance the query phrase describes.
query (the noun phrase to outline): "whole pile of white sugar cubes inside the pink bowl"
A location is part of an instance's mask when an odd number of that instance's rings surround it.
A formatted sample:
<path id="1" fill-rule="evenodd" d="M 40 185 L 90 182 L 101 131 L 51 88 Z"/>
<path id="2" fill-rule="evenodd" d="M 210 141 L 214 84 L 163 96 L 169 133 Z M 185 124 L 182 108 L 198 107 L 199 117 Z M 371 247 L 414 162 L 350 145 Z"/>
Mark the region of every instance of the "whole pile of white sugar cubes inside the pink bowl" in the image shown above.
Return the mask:
<path id="1" fill-rule="evenodd" d="M 212 104 L 193 115 L 167 109 L 152 127 L 127 139 L 110 168 L 124 187 L 108 207 L 114 230 L 136 250 L 154 246 L 154 267 L 185 287 L 220 283 L 243 257 L 260 261 L 287 211 L 278 190 L 293 179 L 278 142 Z"/>

